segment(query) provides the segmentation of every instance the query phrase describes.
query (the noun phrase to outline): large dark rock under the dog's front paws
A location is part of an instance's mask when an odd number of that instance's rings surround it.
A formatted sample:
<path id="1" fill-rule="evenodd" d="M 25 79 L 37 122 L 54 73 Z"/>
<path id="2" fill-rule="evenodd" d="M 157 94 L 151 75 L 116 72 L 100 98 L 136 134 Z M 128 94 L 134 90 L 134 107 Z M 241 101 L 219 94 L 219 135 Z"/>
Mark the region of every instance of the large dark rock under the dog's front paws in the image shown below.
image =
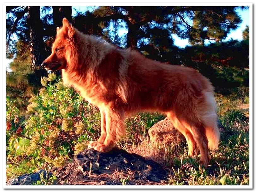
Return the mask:
<path id="1" fill-rule="evenodd" d="M 140 155 L 118 149 L 113 149 L 108 153 L 93 149 L 84 150 L 74 156 L 72 163 L 54 170 L 54 174 L 60 181 L 65 181 L 65 184 L 81 185 L 90 183 L 92 181 L 91 175 L 95 177 L 101 174 L 113 174 L 116 171 L 137 172 L 134 174 L 134 179 L 139 179 L 143 175 L 152 182 L 160 182 L 168 176 L 167 171 L 155 161 L 146 160 Z M 104 179 L 104 177 L 103 180 L 98 179 L 98 183 L 109 184 Z M 120 179 L 119 184 L 121 184 Z"/>

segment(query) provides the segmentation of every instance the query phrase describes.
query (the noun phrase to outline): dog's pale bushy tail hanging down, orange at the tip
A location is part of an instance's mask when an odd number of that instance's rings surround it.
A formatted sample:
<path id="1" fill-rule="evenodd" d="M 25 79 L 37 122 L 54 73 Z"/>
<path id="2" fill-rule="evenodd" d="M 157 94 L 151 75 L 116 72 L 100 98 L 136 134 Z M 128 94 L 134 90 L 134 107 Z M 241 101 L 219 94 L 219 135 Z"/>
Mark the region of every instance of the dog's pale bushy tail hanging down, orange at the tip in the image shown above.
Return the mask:
<path id="1" fill-rule="evenodd" d="M 220 140 L 220 133 L 217 126 L 216 102 L 212 92 L 205 91 L 204 96 L 205 105 L 202 110 L 203 114 L 201 115 L 203 117 L 205 135 L 208 139 L 208 147 L 210 149 L 217 149 Z"/>

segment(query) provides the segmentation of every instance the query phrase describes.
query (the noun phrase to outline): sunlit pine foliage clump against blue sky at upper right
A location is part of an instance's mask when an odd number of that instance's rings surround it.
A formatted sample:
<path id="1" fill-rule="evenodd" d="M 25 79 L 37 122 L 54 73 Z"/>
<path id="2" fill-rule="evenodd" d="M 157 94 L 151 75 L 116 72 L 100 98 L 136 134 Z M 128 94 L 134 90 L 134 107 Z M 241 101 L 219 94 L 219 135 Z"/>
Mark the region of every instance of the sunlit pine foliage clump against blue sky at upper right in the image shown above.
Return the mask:
<path id="1" fill-rule="evenodd" d="M 205 40 L 219 42 L 226 38 L 231 29 L 238 27 L 241 18 L 236 7 L 205 7 L 192 15 L 189 26 L 189 41 L 192 45 L 204 46 Z"/>

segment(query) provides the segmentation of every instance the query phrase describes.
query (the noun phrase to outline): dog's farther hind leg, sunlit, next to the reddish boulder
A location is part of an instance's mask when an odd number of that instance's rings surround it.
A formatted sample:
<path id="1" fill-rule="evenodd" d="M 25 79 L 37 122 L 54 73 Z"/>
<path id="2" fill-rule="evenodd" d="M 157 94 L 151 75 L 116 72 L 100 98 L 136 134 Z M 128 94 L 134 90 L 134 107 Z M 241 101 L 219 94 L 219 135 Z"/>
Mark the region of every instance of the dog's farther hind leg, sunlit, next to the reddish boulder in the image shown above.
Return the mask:
<path id="1" fill-rule="evenodd" d="M 167 119 L 170 119 L 173 126 L 179 130 L 184 137 L 186 138 L 186 141 L 188 143 L 188 155 L 191 157 L 194 157 L 195 155 L 197 155 L 197 146 L 196 146 L 196 142 L 192 136 L 192 134 L 190 133 L 190 131 L 184 127 L 184 125 L 182 125 L 182 123 L 176 118 L 176 116 L 174 116 L 173 113 L 167 113 Z"/>

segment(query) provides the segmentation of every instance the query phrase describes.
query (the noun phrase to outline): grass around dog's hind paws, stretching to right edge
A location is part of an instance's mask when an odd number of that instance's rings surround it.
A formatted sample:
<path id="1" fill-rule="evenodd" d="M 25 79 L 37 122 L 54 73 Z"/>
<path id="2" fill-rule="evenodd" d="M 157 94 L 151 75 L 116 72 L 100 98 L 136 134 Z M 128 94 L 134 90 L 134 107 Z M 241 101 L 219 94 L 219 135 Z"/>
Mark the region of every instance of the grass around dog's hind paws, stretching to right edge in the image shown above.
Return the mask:
<path id="1" fill-rule="evenodd" d="M 198 164 L 200 156 L 189 157 L 186 143 L 152 144 L 140 138 L 137 144 L 127 145 L 128 152 L 157 161 L 170 170 L 165 185 L 248 185 L 249 184 L 249 119 L 240 110 L 227 111 L 219 149 L 210 151 L 207 168 Z M 139 139 L 138 139 L 139 140 Z"/>

